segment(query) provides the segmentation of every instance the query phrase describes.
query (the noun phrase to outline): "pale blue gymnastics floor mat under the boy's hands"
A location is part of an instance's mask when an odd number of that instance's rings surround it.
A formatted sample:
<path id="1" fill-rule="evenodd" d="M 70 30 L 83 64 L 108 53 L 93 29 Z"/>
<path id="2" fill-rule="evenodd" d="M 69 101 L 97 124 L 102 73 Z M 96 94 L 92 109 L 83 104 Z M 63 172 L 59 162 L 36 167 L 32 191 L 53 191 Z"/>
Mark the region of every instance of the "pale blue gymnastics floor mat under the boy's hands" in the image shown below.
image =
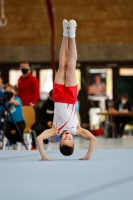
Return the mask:
<path id="1" fill-rule="evenodd" d="M 39 161 L 36 151 L 0 151 L 1 200 L 133 200 L 133 149 L 87 150 L 54 161 Z"/>

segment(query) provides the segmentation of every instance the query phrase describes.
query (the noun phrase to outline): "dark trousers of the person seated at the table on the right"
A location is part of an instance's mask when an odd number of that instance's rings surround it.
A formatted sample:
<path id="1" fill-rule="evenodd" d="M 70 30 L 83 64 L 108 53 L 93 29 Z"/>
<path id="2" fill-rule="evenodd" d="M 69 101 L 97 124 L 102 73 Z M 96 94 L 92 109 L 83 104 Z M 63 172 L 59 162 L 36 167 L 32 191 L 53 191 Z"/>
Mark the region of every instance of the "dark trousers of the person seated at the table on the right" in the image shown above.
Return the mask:
<path id="1" fill-rule="evenodd" d="M 116 133 L 122 136 L 125 125 L 131 121 L 131 117 L 115 117 Z"/>

